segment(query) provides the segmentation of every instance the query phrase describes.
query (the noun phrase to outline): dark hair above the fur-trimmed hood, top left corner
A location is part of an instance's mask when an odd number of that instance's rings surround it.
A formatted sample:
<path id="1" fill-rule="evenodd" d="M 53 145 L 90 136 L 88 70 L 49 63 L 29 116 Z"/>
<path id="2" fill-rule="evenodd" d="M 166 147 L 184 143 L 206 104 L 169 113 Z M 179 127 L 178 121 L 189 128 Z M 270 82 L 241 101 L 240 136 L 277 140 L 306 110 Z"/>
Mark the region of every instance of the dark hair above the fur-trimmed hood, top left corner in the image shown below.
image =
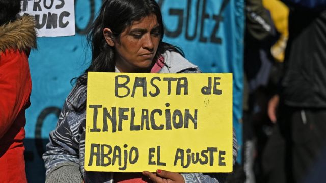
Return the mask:
<path id="1" fill-rule="evenodd" d="M 20 0 L 0 0 L 0 26 L 16 19 L 20 12 Z"/>

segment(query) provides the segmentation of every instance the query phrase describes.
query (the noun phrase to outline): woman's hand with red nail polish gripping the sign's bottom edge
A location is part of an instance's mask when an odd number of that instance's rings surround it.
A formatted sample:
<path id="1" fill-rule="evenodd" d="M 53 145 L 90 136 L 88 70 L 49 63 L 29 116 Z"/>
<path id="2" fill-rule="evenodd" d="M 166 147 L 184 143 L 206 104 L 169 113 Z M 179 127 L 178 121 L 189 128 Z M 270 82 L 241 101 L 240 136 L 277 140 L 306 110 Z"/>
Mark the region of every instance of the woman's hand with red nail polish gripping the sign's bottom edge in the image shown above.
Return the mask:
<path id="1" fill-rule="evenodd" d="M 184 183 L 184 179 L 180 173 L 165 170 L 156 170 L 156 173 L 143 171 L 143 175 L 147 176 L 155 183 Z"/>

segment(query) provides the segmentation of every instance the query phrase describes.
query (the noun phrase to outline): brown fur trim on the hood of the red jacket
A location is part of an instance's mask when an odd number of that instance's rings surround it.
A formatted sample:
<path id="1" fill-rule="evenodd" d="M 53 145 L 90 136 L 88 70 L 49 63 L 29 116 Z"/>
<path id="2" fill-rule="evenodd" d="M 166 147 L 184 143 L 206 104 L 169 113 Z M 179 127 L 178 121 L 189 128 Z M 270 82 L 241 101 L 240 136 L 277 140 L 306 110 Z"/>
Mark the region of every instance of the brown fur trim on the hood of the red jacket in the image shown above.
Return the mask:
<path id="1" fill-rule="evenodd" d="M 0 52 L 30 48 L 36 48 L 35 19 L 32 16 L 22 16 L 0 26 Z"/>

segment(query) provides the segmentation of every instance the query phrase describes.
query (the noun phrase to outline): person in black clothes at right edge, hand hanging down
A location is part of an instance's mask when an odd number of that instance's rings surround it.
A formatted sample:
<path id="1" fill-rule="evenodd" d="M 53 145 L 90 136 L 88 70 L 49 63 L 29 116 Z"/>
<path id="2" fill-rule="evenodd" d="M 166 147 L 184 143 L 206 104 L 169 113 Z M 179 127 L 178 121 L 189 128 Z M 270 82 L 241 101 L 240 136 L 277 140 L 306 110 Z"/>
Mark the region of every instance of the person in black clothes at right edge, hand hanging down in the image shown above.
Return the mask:
<path id="1" fill-rule="evenodd" d="M 286 141 L 287 181 L 303 182 L 326 147 L 326 1 L 284 2 L 290 7 L 285 69 L 268 115 Z"/>

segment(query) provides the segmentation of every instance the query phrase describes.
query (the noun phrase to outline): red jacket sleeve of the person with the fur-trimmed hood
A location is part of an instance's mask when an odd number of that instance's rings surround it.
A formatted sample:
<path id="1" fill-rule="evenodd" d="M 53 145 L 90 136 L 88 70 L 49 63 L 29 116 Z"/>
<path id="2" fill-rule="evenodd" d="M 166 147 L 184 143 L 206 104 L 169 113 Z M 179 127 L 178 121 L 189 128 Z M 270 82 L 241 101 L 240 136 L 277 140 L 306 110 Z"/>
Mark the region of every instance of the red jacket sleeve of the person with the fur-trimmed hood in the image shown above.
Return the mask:
<path id="1" fill-rule="evenodd" d="M 31 76 L 23 51 L 0 53 L 0 138 L 12 126 L 31 94 Z"/>

